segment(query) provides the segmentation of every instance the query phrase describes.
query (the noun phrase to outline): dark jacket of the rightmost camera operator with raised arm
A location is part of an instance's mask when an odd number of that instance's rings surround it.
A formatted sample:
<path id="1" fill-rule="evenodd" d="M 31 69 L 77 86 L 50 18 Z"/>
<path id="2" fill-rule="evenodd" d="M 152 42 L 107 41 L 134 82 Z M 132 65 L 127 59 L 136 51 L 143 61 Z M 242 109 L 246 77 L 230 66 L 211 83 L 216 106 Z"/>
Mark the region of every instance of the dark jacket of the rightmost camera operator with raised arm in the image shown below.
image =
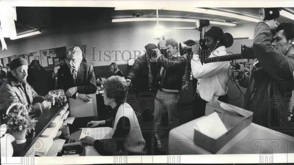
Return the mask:
<path id="1" fill-rule="evenodd" d="M 254 30 L 253 51 L 261 70 L 247 68 L 240 85 L 250 87 L 250 95 L 244 98 L 243 108 L 253 112 L 252 122 L 277 129 L 287 122 L 293 90 L 294 55 L 284 55 L 274 48 L 270 28 L 257 23 Z M 293 102 L 293 100 L 292 100 Z M 289 104 L 290 105 L 290 104 Z"/>

